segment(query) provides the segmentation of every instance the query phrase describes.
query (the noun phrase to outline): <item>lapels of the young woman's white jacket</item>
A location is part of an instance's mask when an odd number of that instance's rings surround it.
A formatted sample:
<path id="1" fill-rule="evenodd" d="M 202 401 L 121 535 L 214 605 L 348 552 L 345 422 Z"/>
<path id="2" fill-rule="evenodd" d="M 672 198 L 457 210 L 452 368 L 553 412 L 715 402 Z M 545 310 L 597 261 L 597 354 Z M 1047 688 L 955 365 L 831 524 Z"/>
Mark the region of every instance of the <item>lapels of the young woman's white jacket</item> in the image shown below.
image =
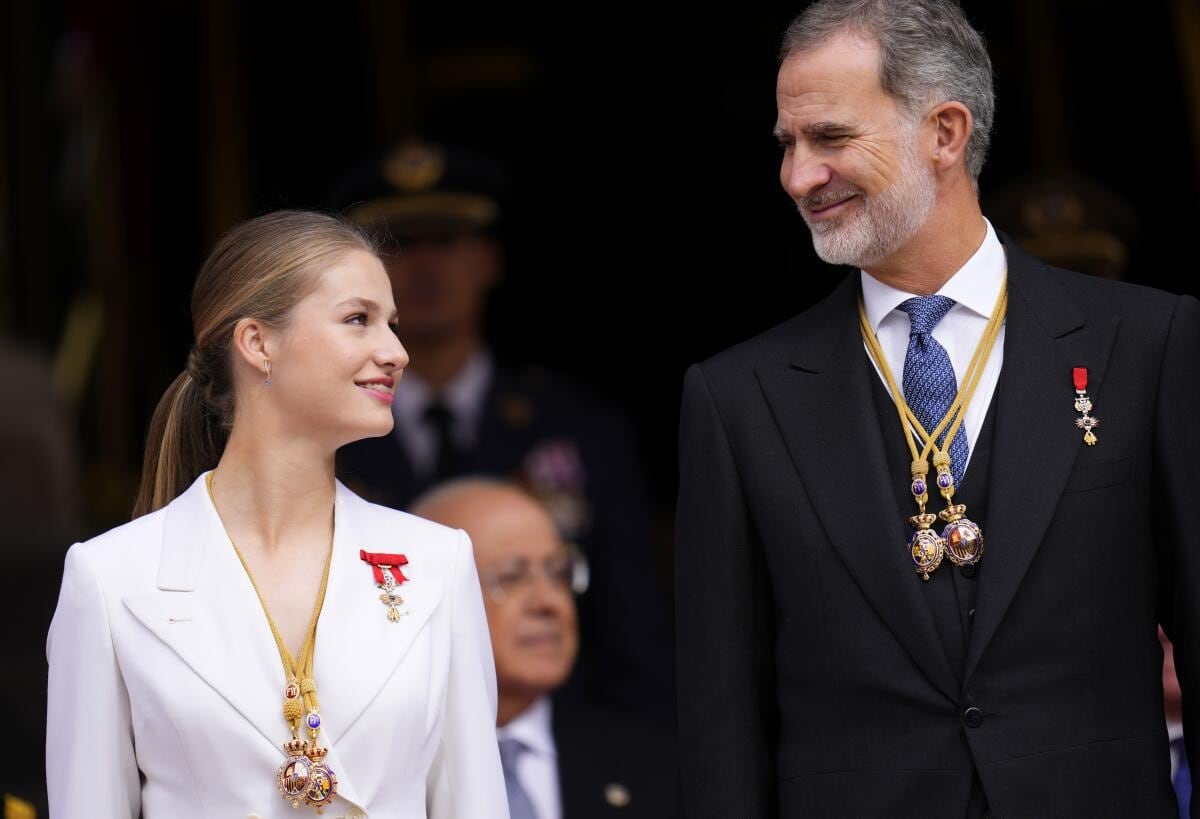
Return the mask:
<path id="1" fill-rule="evenodd" d="M 253 585 L 238 560 L 202 474 L 167 508 L 157 591 L 130 594 L 125 606 L 208 682 L 283 760 L 288 739 L 281 706 L 283 668 Z M 337 753 L 337 740 L 374 700 L 442 598 L 442 581 L 403 532 L 373 526 L 371 507 L 337 484 L 334 556 L 317 626 L 313 675 L 322 704 L 322 745 L 338 794 L 361 803 Z M 408 552 L 400 587 L 404 615 L 388 620 L 371 567 L 359 550 Z M 415 560 L 414 560 L 415 558 Z"/>

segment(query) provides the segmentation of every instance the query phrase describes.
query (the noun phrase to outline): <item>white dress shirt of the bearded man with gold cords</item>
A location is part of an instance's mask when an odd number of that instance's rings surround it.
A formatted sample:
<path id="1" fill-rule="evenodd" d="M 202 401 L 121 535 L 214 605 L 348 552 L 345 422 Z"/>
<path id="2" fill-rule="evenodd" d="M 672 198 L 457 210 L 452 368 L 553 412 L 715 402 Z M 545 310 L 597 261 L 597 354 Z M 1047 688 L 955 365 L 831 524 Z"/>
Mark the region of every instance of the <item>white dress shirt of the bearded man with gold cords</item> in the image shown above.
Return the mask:
<path id="1" fill-rule="evenodd" d="M 954 299 L 954 306 L 942 321 L 934 327 L 934 339 L 937 340 L 946 353 L 950 357 L 954 366 L 954 378 L 959 389 L 962 389 L 964 376 L 971 357 L 974 354 L 979 340 L 983 339 L 984 328 L 991 318 L 991 311 L 1000 298 L 1001 286 L 1008 269 L 1004 257 L 1004 247 L 996 237 L 991 222 L 984 220 L 986 233 L 983 244 L 976 250 L 967 263 L 959 268 L 958 273 L 937 291 L 937 295 Z M 896 384 L 904 389 L 904 359 L 908 353 L 908 330 L 911 323 L 908 313 L 900 310 L 900 305 L 907 299 L 917 297 L 916 293 L 906 293 L 880 280 L 872 277 L 865 270 L 859 275 L 863 281 L 863 306 L 866 309 L 866 318 L 880 340 L 883 357 L 892 369 L 892 376 Z M 1004 328 L 1000 328 L 996 336 L 996 345 L 991 348 L 991 354 L 984 365 L 979 385 L 974 396 L 967 406 L 966 418 L 959 429 L 959 435 L 967 436 L 970 452 L 974 453 L 974 443 L 979 440 L 979 431 L 988 414 L 988 405 L 996 391 L 996 382 L 1000 379 L 1000 367 L 1004 358 Z M 878 367 L 876 367 L 878 372 Z M 880 375 L 882 379 L 882 373 Z M 888 418 L 890 422 L 892 418 Z M 971 462 L 970 454 L 967 464 Z M 966 465 L 964 465 L 966 470 Z"/>

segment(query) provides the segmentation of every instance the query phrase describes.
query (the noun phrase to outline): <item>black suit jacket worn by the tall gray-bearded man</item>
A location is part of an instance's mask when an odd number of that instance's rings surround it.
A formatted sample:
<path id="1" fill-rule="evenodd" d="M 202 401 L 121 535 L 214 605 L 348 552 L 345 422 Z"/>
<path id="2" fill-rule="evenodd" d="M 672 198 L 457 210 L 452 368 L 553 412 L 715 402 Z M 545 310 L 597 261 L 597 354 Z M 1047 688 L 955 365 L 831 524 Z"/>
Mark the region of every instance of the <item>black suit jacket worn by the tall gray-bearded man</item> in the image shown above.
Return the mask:
<path id="1" fill-rule="evenodd" d="M 1200 303 L 1006 253 L 961 674 L 905 548 L 913 510 L 894 483 L 908 476 L 887 466 L 858 273 L 689 369 L 676 576 L 686 815 L 959 819 L 973 777 L 1006 819 L 1177 813 L 1156 623 L 1181 652 L 1195 760 Z M 1094 447 L 1074 425 L 1076 366 L 1102 419 Z"/>

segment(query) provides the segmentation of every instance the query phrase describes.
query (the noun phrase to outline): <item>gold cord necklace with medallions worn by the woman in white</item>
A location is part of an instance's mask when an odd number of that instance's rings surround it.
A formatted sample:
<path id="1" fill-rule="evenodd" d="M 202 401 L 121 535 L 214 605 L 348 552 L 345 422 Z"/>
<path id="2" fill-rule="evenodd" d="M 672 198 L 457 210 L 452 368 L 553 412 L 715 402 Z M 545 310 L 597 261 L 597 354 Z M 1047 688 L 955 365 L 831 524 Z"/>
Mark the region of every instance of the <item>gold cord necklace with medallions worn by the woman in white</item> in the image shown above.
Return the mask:
<path id="1" fill-rule="evenodd" d="M 205 486 L 209 490 L 209 498 L 214 507 L 216 500 L 212 497 L 212 472 L 205 478 Z M 228 531 L 226 532 L 228 536 Z M 313 654 L 317 646 L 317 621 L 320 618 L 320 610 L 325 605 L 325 590 L 329 587 L 329 568 L 334 562 L 334 546 L 330 544 L 329 556 L 325 557 L 325 569 L 320 575 L 320 587 L 317 591 L 317 600 L 308 617 L 308 627 L 305 630 L 304 644 L 300 646 L 299 659 L 292 656 L 287 642 L 280 634 L 270 610 L 266 608 L 266 599 L 262 590 L 254 582 L 254 575 L 246 563 L 245 556 L 238 549 L 238 544 L 229 538 L 229 545 L 238 555 L 250 585 L 254 587 L 254 594 L 266 615 L 266 624 L 271 627 L 271 636 L 275 638 L 275 646 L 280 651 L 280 660 L 283 663 L 283 675 L 287 685 L 283 688 L 283 719 L 292 729 L 292 739 L 283 743 L 283 752 L 287 759 L 280 765 L 275 775 L 276 788 L 284 800 L 292 802 L 292 807 L 299 807 L 300 802 L 308 805 L 320 813 L 323 808 L 334 801 L 337 795 L 337 777 L 325 764 L 324 758 L 329 753 L 326 748 L 317 745 L 317 736 L 320 734 L 320 703 L 317 701 L 317 683 L 312 678 Z M 300 739 L 301 727 L 308 729 L 311 742 Z"/>

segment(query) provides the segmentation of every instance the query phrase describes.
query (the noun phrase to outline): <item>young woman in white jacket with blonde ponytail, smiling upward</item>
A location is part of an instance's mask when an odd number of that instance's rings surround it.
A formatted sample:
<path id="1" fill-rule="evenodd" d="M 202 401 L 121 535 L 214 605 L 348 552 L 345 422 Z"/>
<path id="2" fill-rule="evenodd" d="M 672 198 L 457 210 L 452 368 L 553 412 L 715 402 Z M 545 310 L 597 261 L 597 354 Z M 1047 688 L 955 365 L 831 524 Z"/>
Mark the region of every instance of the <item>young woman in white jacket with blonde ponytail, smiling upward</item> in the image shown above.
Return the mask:
<path id="1" fill-rule="evenodd" d="M 52 815 L 505 818 L 467 534 L 334 477 L 338 447 L 391 431 L 408 363 L 371 240 L 322 214 L 246 222 L 192 321 L 134 520 L 67 555 Z"/>

